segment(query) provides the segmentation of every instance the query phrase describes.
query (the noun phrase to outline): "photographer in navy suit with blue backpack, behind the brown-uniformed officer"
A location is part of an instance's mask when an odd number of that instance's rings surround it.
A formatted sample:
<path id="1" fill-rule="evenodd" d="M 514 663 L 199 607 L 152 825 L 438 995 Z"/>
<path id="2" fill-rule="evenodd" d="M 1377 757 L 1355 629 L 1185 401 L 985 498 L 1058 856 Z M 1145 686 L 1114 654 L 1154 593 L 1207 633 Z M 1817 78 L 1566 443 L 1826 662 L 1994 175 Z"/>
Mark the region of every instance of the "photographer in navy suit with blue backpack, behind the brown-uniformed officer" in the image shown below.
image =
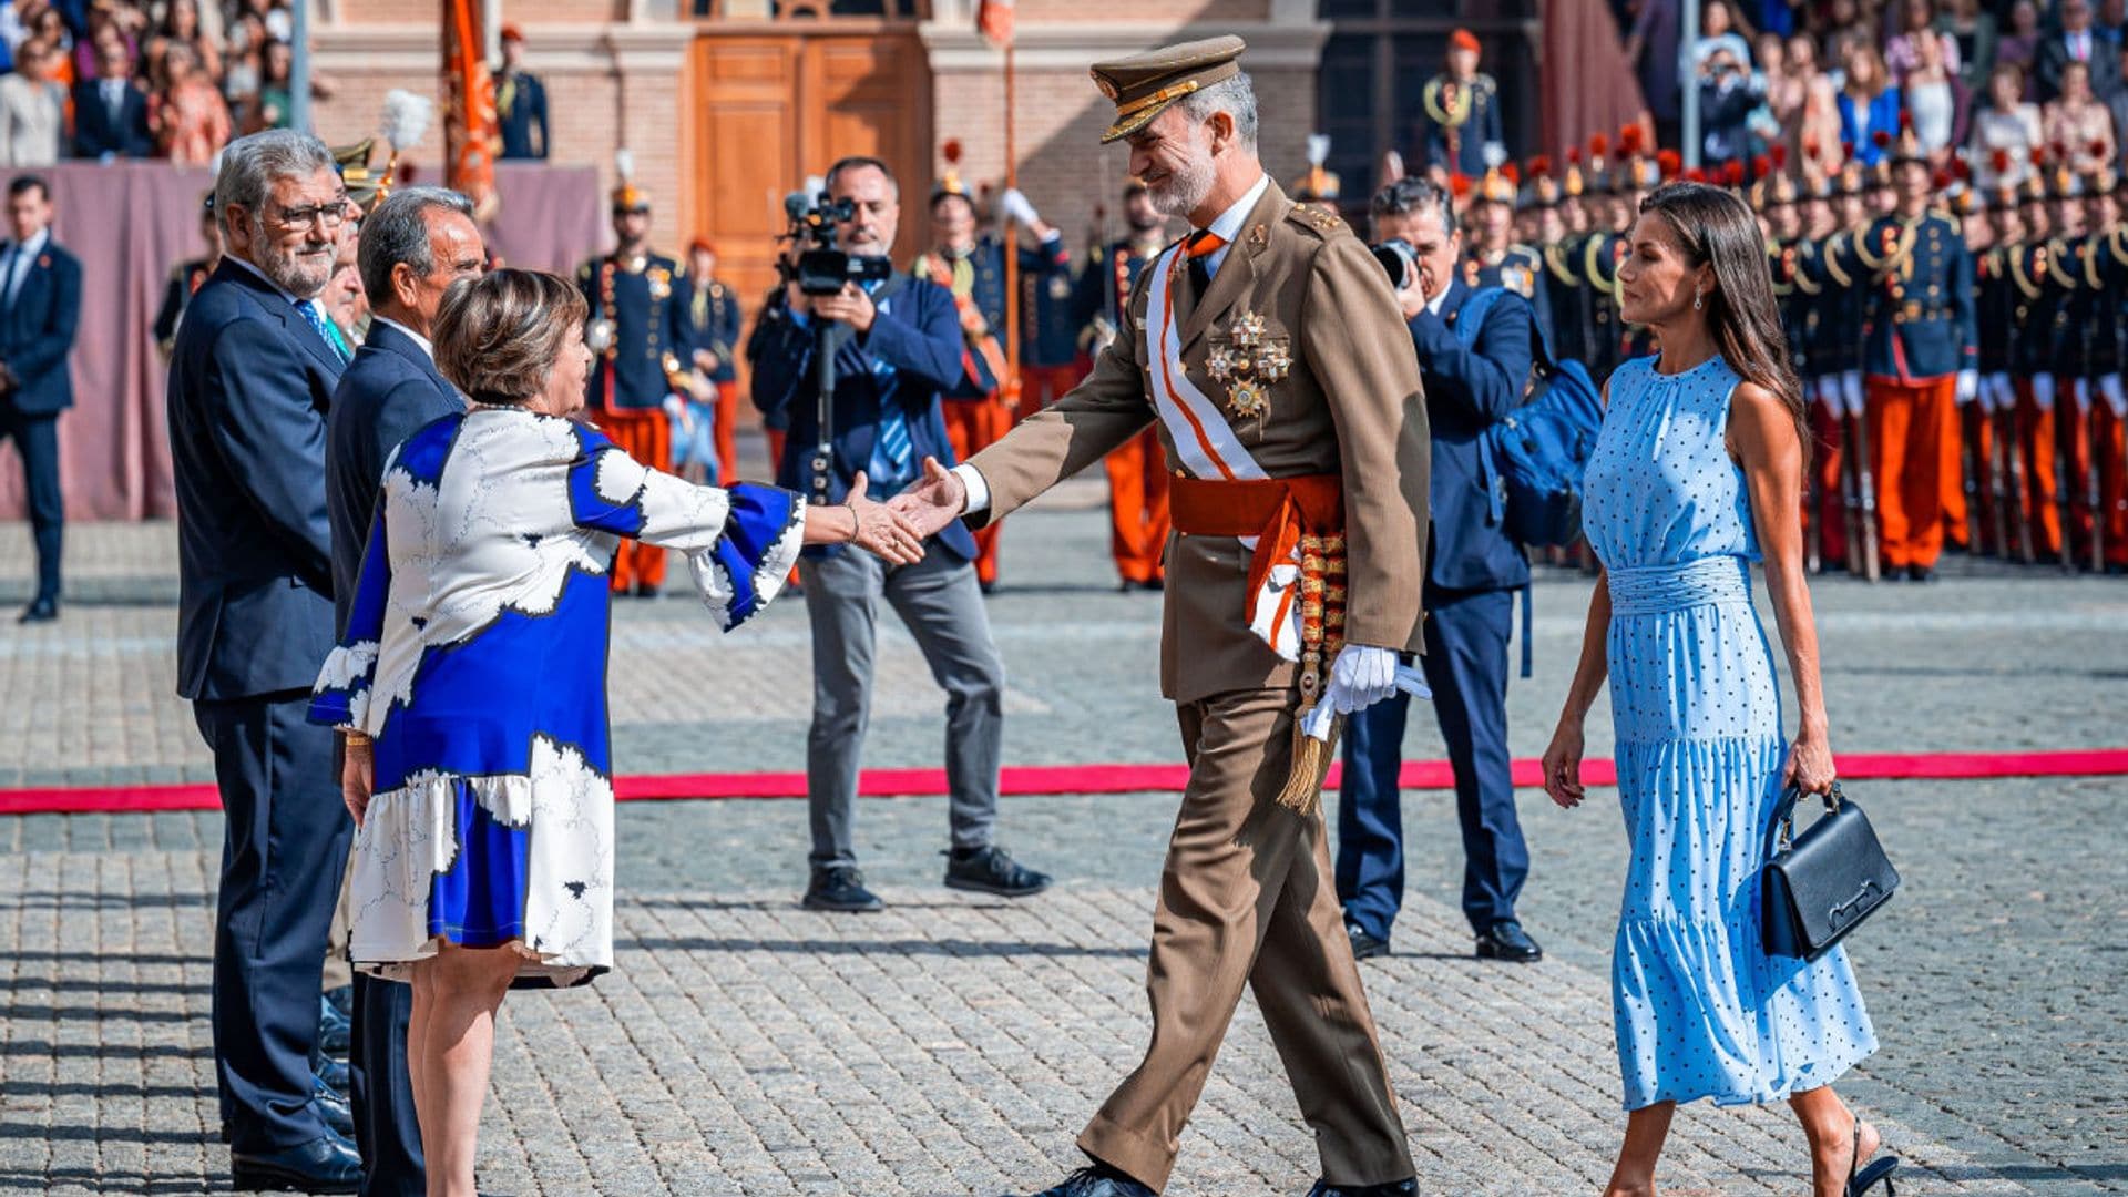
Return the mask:
<path id="1" fill-rule="evenodd" d="M 1530 852 L 1515 818 L 1507 756 L 1507 639 L 1515 590 L 1530 584 L 1522 545 L 1507 539 L 1479 462 L 1479 439 L 1522 405 L 1536 319 L 1528 300 L 1498 290 L 1481 324 L 1458 328 L 1470 290 L 1458 270 L 1462 236 L 1449 196 L 1424 179 L 1398 179 L 1375 196 L 1377 241 L 1411 247 L 1407 285 L 1396 292 L 1426 381 L 1432 428 L 1432 535 L 1426 562 L 1426 684 L 1456 769 L 1456 814 L 1464 839 L 1462 907 L 1477 954 L 1536 961 L 1543 952 L 1515 920 Z M 1353 956 L 1390 950 L 1390 924 L 1404 901 L 1404 824 L 1396 773 L 1404 760 L 1398 692 L 1345 726 L 1345 784 L 1339 801 L 1336 895 Z"/>

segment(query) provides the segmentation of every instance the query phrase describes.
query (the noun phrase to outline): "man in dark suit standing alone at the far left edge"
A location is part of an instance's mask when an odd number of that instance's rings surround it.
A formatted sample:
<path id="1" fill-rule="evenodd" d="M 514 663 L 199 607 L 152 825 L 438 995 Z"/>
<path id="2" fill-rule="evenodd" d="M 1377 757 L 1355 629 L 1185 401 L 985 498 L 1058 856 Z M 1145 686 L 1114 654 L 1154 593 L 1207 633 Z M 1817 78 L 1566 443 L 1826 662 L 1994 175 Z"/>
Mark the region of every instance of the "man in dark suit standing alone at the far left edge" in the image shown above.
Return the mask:
<path id="1" fill-rule="evenodd" d="M 23 624 L 60 618 L 60 413 L 74 405 L 66 358 L 81 315 L 81 262 L 51 241 L 51 194 L 21 175 L 6 190 L 9 243 L 0 249 L 0 437 L 15 441 L 36 539 L 36 598 Z"/>

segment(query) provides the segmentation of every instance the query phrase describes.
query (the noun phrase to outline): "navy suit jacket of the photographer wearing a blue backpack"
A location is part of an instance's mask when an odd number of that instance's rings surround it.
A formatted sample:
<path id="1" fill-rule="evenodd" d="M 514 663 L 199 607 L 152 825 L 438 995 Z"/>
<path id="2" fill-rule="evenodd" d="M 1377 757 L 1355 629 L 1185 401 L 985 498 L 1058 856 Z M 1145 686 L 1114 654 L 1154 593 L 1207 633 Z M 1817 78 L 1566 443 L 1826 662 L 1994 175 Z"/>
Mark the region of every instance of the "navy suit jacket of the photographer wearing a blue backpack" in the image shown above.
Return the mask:
<path id="1" fill-rule="evenodd" d="M 1432 535 L 1426 539 L 1426 579 L 1447 590 L 1507 590 L 1530 584 L 1522 545 L 1492 522 L 1479 437 L 1522 407 L 1534 351 L 1528 300 L 1500 294 L 1483 315 L 1470 349 L 1456 337 L 1456 317 L 1473 290 L 1449 283 L 1441 315 L 1411 317 L 1411 343 L 1426 381 L 1426 426 L 1432 430 Z"/>

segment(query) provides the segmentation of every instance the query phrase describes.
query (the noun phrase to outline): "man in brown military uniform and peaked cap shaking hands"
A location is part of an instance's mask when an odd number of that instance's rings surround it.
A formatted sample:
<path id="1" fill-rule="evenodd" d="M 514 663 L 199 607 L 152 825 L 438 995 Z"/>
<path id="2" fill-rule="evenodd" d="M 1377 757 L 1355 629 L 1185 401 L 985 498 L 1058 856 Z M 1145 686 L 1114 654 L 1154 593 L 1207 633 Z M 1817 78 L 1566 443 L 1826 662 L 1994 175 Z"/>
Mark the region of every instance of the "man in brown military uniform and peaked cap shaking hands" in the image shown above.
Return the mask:
<path id="1" fill-rule="evenodd" d="M 1330 884 L 1332 748 L 1309 731 L 1385 699 L 1422 647 L 1426 407 L 1381 266 L 1264 175 L 1241 49 L 1094 68 L 1117 104 L 1102 136 L 1130 138 L 1132 173 L 1196 232 L 1141 273 L 1085 383 L 896 498 L 924 526 L 994 522 L 1149 426 L 1173 469 L 1162 682 L 1190 786 L 1153 916 L 1151 1048 L 1079 1135 L 1094 1163 L 1047 1197 L 1166 1186 L 1245 988 L 1315 1131 L 1315 1193 L 1417 1193 Z"/>

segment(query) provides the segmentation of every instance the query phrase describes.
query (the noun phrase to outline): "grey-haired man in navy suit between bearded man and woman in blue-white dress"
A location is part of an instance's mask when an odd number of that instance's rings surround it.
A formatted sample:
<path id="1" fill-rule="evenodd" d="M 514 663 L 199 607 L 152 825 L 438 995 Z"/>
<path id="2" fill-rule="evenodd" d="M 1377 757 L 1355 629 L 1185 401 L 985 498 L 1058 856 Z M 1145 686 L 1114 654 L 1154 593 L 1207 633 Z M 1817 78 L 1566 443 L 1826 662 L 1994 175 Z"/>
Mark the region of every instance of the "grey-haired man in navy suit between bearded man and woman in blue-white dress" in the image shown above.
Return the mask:
<path id="1" fill-rule="evenodd" d="M 466 409 L 440 373 L 428 334 L 443 292 L 479 277 L 487 247 L 472 200 L 443 187 L 400 187 L 362 217 L 362 290 L 370 337 L 340 375 L 326 417 L 326 511 L 332 522 L 332 613 L 347 609 L 370 537 L 377 483 L 400 441 Z M 353 1112 L 364 1197 L 421 1197 L 421 1127 L 406 1073 L 413 986 L 355 973 Z"/>

